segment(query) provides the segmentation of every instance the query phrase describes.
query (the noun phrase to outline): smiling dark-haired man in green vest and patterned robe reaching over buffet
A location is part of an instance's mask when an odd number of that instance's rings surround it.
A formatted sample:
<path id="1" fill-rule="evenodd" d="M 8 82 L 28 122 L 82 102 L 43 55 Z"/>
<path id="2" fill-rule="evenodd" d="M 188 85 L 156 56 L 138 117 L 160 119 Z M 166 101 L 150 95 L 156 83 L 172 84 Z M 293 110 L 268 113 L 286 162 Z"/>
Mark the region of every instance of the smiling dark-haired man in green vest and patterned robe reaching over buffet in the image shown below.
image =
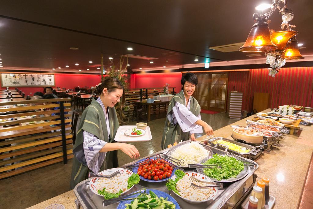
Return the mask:
<path id="1" fill-rule="evenodd" d="M 186 73 L 182 76 L 182 91 L 176 94 L 170 101 L 167 110 L 162 137 L 162 149 L 166 149 L 174 142 L 186 141 L 189 138 L 195 141 L 195 133 L 213 134 L 213 129 L 208 123 L 201 120 L 201 107 L 198 101 L 192 97 L 198 85 L 198 78 L 194 73 Z"/>

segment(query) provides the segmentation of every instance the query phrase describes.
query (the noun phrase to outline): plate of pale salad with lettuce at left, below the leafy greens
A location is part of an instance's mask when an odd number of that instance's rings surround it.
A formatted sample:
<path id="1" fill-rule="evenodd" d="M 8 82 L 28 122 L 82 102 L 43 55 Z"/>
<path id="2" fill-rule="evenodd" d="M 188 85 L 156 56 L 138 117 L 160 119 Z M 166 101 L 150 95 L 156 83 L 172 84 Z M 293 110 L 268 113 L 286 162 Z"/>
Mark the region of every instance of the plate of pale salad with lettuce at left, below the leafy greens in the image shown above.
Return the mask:
<path id="1" fill-rule="evenodd" d="M 200 181 L 213 182 L 207 176 L 196 173 L 196 172 L 183 172 L 181 170 L 177 170 L 175 175 L 166 183 L 166 187 L 168 190 L 172 190 L 175 195 L 179 196 L 183 200 L 187 202 L 206 202 L 212 200 L 218 193 L 218 189 L 215 187 L 207 188 L 207 189 L 191 189 L 189 188 L 190 184 L 196 184 L 198 186 L 208 186 L 206 183 L 198 182 L 198 181 L 190 181 L 189 178 L 193 176 Z"/>

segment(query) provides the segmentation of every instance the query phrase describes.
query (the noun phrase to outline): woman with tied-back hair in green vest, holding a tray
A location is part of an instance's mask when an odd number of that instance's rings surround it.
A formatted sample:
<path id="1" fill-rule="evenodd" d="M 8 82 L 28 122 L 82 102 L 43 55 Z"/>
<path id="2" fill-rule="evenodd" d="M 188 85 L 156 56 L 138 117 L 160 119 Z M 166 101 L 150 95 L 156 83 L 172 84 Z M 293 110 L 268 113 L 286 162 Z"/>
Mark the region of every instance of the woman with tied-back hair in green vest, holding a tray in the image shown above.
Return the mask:
<path id="1" fill-rule="evenodd" d="M 120 149 L 132 159 L 140 156 L 135 146 L 114 142 L 119 122 L 115 104 L 125 102 L 124 86 L 116 78 L 107 78 L 97 86 L 100 94 L 84 110 L 73 148 L 74 160 L 70 186 L 73 189 L 89 172 L 118 167 L 117 150 Z"/>

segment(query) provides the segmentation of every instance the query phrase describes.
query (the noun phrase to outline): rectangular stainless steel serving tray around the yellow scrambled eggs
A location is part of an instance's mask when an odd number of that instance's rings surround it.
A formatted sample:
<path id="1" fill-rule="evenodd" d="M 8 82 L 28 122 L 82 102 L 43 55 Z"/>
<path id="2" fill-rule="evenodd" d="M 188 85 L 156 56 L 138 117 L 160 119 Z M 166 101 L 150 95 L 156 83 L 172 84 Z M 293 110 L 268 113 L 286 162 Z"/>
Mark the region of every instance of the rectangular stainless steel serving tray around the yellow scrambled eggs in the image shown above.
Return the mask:
<path id="1" fill-rule="evenodd" d="M 250 149 L 249 152 L 247 153 L 241 153 L 241 152 L 237 152 L 235 150 L 232 150 L 232 149 L 229 149 L 228 147 L 226 146 L 223 146 L 223 144 L 214 144 L 215 141 L 217 140 L 223 140 L 223 141 L 226 141 L 226 142 L 230 142 L 230 143 L 233 143 L 233 144 L 237 144 L 239 146 L 242 146 L 242 147 L 245 147 L 246 149 Z M 241 156 L 241 157 L 244 157 L 244 158 L 248 158 L 248 159 L 252 159 L 252 155 L 255 151 L 257 151 L 257 149 L 255 148 L 252 148 L 253 146 L 250 145 L 250 144 L 244 144 L 244 143 L 241 143 L 241 142 L 238 142 L 238 141 L 234 141 L 234 140 L 231 140 L 231 139 L 228 139 L 228 138 L 223 138 L 223 137 L 216 137 L 216 138 L 212 138 L 208 141 L 208 143 L 212 146 L 212 147 L 215 147 L 215 148 L 218 148 L 218 149 L 222 149 L 224 150 L 225 152 L 228 152 L 228 153 L 233 153 L 235 155 L 238 155 L 238 156 Z M 251 149 L 252 148 L 252 149 Z"/>

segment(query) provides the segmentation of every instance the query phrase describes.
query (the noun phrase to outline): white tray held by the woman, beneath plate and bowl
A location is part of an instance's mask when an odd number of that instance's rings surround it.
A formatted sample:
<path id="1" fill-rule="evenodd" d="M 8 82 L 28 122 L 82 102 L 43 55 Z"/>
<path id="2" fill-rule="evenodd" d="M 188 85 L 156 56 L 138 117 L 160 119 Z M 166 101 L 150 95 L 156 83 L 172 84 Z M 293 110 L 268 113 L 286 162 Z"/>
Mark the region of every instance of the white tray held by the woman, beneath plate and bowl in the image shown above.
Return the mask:
<path id="1" fill-rule="evenodd" d="M 152 139 L 150 127 L 147 126 L 145 129 L 146 134 L 142 136 L 127 136 L 124 134 L 124 132 L 128 129 L 134 128 L 136 125 L 133 126 L 120 126 L 120 128 L 117 129 L 114 141 L 116 142 L 147 142 Z M 137 128 L 137 127 L 136 127 Z"/>

